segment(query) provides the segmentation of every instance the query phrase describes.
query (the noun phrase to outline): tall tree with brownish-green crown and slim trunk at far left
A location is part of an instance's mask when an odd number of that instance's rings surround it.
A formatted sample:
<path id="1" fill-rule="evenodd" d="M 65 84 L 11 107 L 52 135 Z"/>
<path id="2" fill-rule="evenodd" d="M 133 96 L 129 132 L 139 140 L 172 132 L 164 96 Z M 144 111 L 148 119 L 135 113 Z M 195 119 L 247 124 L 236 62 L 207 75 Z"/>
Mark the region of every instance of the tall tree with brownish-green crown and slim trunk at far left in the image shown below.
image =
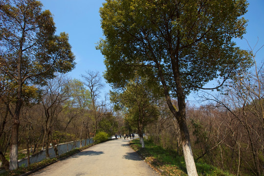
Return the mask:
<path id="1" fill-rule="evenodd" d="M 68 35 L 55 35 L 49 10 L 42 11 L 36 0 L 0 1 L 0 75 L 16 88 L 12 115 L 10 169 L 18 168 L 18 132 L 23 105 L 23 85 L 43 84 L 54 72 L 74 68 Z"/>

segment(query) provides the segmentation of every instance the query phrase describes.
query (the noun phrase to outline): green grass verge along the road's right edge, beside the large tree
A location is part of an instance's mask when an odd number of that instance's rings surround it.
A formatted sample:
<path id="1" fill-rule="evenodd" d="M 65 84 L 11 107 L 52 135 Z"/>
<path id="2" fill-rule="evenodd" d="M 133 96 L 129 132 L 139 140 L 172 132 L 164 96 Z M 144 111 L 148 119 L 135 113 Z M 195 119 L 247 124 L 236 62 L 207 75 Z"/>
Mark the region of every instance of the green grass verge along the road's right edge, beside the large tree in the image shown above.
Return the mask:
<path id="1" fill-rule="evenodd" d="M 175 151 L 163 149 L 154 145 L 149 140 L 144 140 L 145 148 L 141 148 L 139 139 L 130 142 L 130 146 L 152 167 L 159 170 L 164 176 L 187 176 L 184 157 Z M 196 163 L 199 176 L 234 176 L 216 167 L 205 163 Z"/>

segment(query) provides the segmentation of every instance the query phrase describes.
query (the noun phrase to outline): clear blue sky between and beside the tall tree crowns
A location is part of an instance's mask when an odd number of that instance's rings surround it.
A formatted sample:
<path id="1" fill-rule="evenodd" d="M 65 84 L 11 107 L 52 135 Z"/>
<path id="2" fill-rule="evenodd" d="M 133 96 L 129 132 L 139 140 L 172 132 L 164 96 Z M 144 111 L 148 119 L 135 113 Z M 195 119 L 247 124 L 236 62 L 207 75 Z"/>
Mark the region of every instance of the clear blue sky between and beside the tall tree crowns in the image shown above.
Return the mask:
<path id="1" fill-rule="evenodd" d="M 44 7 L 54 15 L 57 33 L 69 34 L 69 43 L 76 56 L 76 67 L 68 73 L 72 78 L 81 80 L 86 70 L 105 71 L 104 56 L 95 49 L 96 43 L 103 38 L 99 8 L 105 0 L 40 0 Z M 251 47 L 264 44 L 264 0 L 249 0 L 248 12 L 244 16 L 249 20 L 244 38 Z M 259 41 L 258 41 L 259 38 Z M 242 49 L 249 49 L 245 40 L 236 40 Z M 257 49 L 256 49 L 257 50 Z M 264 61 L 264 48 L 256 57 L 259 64 Z M 106 86 L 105 92 L 108 92 Z"/>

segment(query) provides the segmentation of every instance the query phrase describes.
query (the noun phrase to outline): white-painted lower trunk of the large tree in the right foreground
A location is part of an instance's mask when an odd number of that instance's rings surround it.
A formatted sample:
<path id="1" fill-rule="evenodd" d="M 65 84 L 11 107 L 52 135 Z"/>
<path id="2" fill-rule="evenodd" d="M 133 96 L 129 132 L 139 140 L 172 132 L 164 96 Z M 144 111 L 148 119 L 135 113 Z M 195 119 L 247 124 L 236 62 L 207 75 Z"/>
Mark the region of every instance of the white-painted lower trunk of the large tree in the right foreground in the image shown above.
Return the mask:
<path id="1" fill-rule="evenodd" d="M 182 149 L 188 176 L 198 176 L 190 141 L 182 142 Z"/>

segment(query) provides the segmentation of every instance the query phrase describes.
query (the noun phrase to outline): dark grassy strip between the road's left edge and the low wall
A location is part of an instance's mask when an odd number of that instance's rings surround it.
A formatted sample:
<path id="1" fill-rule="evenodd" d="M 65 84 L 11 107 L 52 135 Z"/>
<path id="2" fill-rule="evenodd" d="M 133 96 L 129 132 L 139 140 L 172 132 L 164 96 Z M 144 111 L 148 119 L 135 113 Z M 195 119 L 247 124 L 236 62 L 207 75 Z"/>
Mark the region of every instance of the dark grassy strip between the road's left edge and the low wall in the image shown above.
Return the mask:
<path id="1" fill-rule="evenodd" d="M 27 172 L 30 172 L 30 171 L 34 171 L 36 169 L 39 169 L 41 167 L 44 167 L 48 164 L 51 164 L 51 163 L 54 163 L 64 157 L 67 157 L 67 156 L 70 156 L 72 154 L 76 154 L 84 149 L 87 149 L 91 146 L 95 145 L 95 143 L 92 143 L 92 144 L 89 144 L 87 146 L 84 146 L 82 148 L 76 148 L 76 149 L 73 149 L 65 154 L 61 154 L 57 157 L 54 157 L 54 158 L 50 158 L 50 159 L 44 159 L 43 161 L 40 161 L 40 162 L 37 162 L 37 163 L 33 163 L 33 164 L 30 164 L 28 167 L 19 167 L 18 169 L 16 170 L 13 170 L 13 171 L 7 171 L 5 173 L 1 173 L 0 176 L 21 176 Z"/>

